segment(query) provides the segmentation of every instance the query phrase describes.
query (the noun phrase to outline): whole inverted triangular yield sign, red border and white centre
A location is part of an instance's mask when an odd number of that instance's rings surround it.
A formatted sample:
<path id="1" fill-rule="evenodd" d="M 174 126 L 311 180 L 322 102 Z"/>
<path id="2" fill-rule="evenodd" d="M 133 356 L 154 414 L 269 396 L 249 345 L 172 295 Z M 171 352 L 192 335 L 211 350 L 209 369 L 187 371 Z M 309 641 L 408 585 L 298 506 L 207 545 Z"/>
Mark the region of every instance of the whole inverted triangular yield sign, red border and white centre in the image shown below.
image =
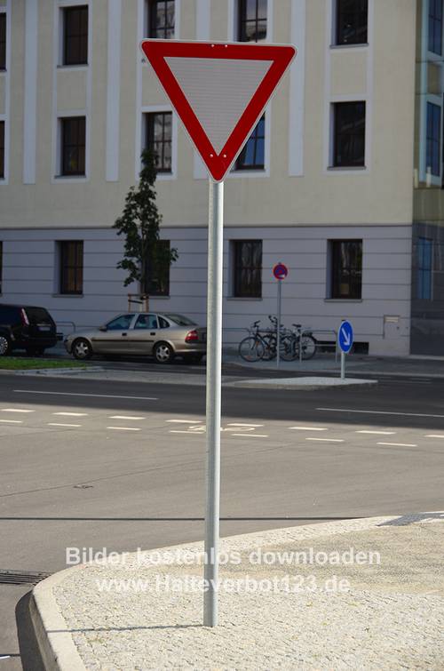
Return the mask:
<path id="1" fill-rule="evenodd" d="M 296 48 L 172 40 L 144 40 L 140 47 L 211 177 L 222 181 Z"/>

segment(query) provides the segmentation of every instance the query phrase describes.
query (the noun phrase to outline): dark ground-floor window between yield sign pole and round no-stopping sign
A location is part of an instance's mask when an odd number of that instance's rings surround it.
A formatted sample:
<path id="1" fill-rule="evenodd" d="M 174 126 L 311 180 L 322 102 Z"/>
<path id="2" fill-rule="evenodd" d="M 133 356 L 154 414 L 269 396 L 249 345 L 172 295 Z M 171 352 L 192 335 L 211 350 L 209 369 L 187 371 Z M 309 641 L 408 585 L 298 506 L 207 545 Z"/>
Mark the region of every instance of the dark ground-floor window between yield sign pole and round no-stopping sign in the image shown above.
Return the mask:
<path id="1" fill-rule="evenodd" d="M 262 297 L 262 240 L 239 240 L 234 245 L 234 297 Z"/>

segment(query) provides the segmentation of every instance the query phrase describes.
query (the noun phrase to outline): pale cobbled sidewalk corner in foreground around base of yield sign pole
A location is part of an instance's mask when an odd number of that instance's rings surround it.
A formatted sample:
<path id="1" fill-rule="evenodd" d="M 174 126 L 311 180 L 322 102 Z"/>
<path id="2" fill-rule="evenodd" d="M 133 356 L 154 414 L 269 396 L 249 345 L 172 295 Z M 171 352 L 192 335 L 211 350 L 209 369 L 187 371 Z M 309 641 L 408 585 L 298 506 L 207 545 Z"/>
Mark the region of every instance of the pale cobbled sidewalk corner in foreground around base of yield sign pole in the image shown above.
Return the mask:
<path id="1" fill-rule="evenodd" d="M 443 550 L 444 513 L 224 539 L 214 629 L 202 627 L 201 544 L 118 555 L 37 585 L 33 619 L 62 671 L 438 671 Z"/>

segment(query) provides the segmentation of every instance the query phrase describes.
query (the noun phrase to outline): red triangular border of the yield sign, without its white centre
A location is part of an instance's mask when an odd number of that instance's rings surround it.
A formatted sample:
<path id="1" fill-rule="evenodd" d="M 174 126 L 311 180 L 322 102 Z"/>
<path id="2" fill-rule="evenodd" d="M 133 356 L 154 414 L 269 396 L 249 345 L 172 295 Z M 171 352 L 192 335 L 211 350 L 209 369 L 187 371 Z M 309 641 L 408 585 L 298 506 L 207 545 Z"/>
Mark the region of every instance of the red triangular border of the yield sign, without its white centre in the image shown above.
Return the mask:
<path id="1" fill-rule="evenodd" d="M 257 124 L 266 108 L 276 86 L 281 81 L 286 69 L 296 55 L 294 46 L 275 44 L 225 44 L 220 42 L 178 42 L 172 40 L 144 40 L 140 47 L 147 60 L 151 63 L 163 89 L 186 127 L 194 147 L 202 157 L 211 177 L 222 181 L 234 164 L 234 160 L 250 137 L 250 132 Z M 177 56 L 182 58 L 202 59 L 238 59 L 238 60 L 271 60 L 272 65 L 258 86 L 249 105 L 245 108 L 234 131 L 226 140 L 226 145 L 218 154 L 210 143 L 207 134 L 193 108 L 191 108 L 176 77 L 172 74 L 165 58 Z"/>

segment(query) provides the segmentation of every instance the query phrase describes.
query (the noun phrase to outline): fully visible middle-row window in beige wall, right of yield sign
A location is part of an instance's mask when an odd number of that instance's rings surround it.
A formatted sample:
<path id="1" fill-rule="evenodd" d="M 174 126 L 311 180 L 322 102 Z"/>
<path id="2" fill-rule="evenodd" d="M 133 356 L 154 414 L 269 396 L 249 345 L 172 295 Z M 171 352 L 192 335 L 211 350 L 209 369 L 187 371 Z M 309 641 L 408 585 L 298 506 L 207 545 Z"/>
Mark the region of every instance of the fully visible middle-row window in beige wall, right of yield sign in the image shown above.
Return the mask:
<path id="1" fill-rule="evenodd" d="M 365 102 L 334 103 L 333 166 L 365 164 Z"/>

